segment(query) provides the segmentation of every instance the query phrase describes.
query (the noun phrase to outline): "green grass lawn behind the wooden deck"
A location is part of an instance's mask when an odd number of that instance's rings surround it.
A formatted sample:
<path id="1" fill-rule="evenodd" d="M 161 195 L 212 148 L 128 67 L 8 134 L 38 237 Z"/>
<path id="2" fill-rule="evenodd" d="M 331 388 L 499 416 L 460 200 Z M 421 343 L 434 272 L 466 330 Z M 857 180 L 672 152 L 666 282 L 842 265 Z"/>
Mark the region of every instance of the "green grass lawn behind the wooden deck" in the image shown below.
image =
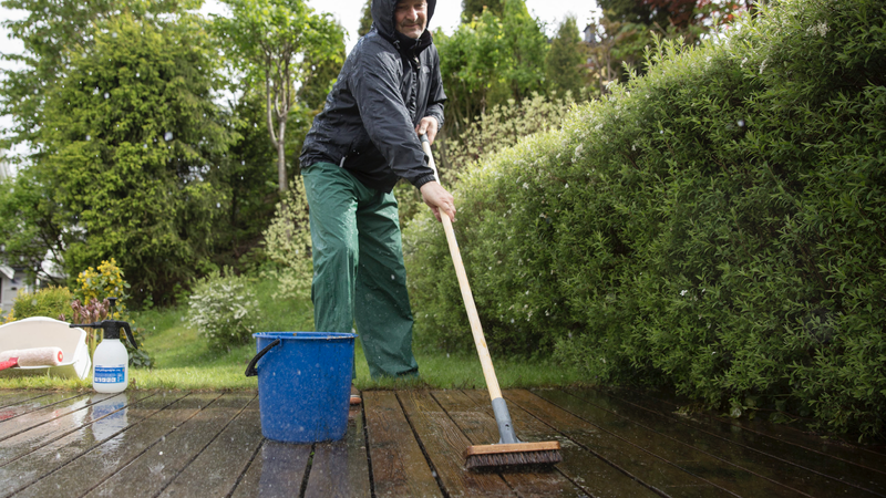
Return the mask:
<path id="1" fill-rule="evenodd" d="M 255 291 L 262 317 L 259 331 L 311 331 L 313 330 L 310 302 L 279 300 L 272 297 L 275 282 L 258 279 Z M 186 307 L 151 310 L 133 314 L 133 322 L 145 329 L 142 346 L 154 359 L 152 369 L 131 369 L 130 378 L 136 388 L 153 390 L 256 390 L 257 377 L 247 377 L 244 372 L 256 353 L 251 344 L 229 351 L 214 351 L 196 330 L 187 328 Z M 471 331 L 465 330 L 470 335 Z M 416 360 L 421 376 L 418 380 L 381 380 L 369 376 L 369 367 L 360 345 L 356 342 L 357 378 L 361 388 L 432 387 L 432 388 L 485 388 L 483 371 L 475 354 L 450 355 L 429 352 L 431 347 L 416 347 Z M 503 388 L 581 383 L 575 369 L 563 367 L 547 361 L 526 359 L 496 359 L 493 352 L 498 383 Z M 92 380 L 60 380 L 55 377 L 0 378 L 0 388 L 91 388 Z"/>

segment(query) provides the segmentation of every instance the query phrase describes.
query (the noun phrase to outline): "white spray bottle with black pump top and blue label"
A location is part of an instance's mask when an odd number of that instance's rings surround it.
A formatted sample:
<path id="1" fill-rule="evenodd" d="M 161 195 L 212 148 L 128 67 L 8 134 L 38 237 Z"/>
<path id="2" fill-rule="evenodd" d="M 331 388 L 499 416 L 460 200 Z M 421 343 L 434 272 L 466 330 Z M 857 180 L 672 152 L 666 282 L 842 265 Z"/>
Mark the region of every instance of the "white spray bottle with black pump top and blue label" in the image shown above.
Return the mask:
<path id="1" fill-rule="evenodd" d="M 111 301 L 111 309 L 115 308 L 116 298 L 107 298 Z M 93 374 L 92 388 L 97 393 L 120 393 L 126 388 L 130 382 L 130 355 L 126 346 L 120 342 L 120 329 L 126 332 L 126 336 L 135 347 L 135 338 L 128 322 L 121 320 L 103 320 L 97 323 L 75 324 L 74 326 L 92 326 L 104 331 L 104 339 L 95 353 L 92 355 Z"/>

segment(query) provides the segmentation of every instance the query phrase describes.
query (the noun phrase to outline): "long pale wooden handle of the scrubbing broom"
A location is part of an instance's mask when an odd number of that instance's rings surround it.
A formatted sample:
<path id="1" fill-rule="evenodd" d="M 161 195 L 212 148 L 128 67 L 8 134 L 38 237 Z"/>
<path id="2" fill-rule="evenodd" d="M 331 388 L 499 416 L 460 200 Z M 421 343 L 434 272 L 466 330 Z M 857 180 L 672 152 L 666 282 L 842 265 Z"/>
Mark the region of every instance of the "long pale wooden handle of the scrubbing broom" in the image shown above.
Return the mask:
<path id="1" fill-rule="evenodd" d="M 427 166 L 434 170 L 434 177 L 440 184 L 440 175 L 436 173 L 434 156 L 431 154 L 431 144 L 427 142 L 425 135 L 422 135 L 422 148 L 424 149 L 424 154 L 427 155 Z M 443 221 L 443 230 L 446 232 L 446 242 L 450 246 L 452 263 L 455 266 L 455 274 L 459 277 L 459 287 L 462 289 L 462 299 L 464 300 L 464 307 L 467 311 L 467 321 L 471 322 L 471 333 L 474 335 L 474 344 L 477 346 L 480 364 L 483 366 L 483 376 L 486 377 L 486 387 L 490 390 L 490 398 L 495 400 L 502 397 L 502 388 L 498 387 L 498 380 L 495 377 L 495 369 L 492 366 L 490 347 L 486 345 L 486 339 L 483 335 L 483 326 L 480 324 L 480 315 L 477 314 L 477 307 L 474 303 L 474 294 L 471 293 L 471 286 L 467 283 L 467 273 L 464 271 L 462 253 L 459 251 L 459 242 L 455 240 L 452 220 L 443 210 L 440 211 L 440 215 Z"/>

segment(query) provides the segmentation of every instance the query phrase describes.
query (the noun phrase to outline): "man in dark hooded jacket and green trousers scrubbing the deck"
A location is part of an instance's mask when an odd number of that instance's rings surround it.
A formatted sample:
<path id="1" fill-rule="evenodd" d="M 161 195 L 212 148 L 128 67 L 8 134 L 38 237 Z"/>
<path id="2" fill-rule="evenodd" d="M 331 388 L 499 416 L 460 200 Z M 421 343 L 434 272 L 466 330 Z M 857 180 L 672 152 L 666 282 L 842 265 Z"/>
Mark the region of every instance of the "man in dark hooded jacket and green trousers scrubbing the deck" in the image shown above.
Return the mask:
<path id="1" fill-rule="evenodd" d="M 455 216 L 419 141 L 433 141 L 446 100 L 426 31 L 435 6 L 372 1 L 372 30 L 344 61 L 301 151 L 315 330 L 350 332 L 356 322 L 372 378 L 419 371 L 394 184 L 419 188 L 437 219 Z"/>

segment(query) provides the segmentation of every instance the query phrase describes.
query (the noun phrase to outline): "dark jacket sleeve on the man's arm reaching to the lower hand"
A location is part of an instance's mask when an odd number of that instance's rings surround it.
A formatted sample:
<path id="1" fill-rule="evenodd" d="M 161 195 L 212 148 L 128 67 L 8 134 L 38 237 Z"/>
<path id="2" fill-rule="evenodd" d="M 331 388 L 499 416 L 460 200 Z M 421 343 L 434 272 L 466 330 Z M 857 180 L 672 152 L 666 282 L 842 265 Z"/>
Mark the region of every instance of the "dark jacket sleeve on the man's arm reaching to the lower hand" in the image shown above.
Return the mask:
<path id="1" fill-rule="evenodd" d="M 400 56 L 389 52 L 362 56 L 348 83 L 372 144 L 398 176 L 421 187 L 434 174 L 400 94 L 399 64 Z"/>

